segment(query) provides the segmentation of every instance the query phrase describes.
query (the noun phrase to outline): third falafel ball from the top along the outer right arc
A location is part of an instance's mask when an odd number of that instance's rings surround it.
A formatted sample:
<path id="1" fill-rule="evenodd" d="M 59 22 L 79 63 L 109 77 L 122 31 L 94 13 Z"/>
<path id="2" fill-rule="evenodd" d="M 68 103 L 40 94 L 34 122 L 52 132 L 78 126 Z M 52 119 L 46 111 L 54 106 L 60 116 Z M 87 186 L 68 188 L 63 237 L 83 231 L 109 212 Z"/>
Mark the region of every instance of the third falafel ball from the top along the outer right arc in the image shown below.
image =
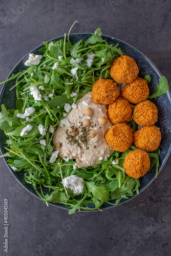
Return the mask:
<path id="1" fill-rule="evenodd" d="M 136 112 L 135 112 L 136 110 Z M 141 126 L 150 126 L 154 125 L 157 122 L 158 118 L 158 109 L 157 106 L 149 101 L 145 100 L 134 107 L 133 120 Z"/>

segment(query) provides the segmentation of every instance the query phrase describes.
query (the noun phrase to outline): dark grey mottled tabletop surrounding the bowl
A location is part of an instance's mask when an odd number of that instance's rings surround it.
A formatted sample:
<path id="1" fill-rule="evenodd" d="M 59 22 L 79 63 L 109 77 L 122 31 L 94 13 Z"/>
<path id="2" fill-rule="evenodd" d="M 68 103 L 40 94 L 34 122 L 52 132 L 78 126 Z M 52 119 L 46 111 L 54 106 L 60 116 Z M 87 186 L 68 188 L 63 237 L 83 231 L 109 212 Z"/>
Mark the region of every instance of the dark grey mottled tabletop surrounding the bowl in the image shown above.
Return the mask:
<path id="1" fill-rule="evenodd" d="M 0 80 L 29 51 L 57 36 L 93 33 L 119 38 L 145 54 L 168 82 L 170 0 L 0 1 Z M 135 199 L 102 212 L 47 207 L 12 176 L 0 159 L 1 255 L 170 255 L 171 157 L 157 179 Z M 3 202 L 9 201 L 9 252 L 3 252 Z"/>

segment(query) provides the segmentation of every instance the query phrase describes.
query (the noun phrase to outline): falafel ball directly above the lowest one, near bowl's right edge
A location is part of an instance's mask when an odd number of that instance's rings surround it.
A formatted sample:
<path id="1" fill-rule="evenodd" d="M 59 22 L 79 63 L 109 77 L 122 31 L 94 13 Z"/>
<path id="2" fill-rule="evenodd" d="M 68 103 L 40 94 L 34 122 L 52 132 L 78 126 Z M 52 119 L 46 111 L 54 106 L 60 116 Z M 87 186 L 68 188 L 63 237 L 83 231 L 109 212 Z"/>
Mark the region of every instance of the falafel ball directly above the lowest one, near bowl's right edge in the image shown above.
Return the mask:
<path id="1" fill-rule="evenodd" d="M 146 152 L 157 150 L 161 141 L 161 132 L 155 125 L 144 126 L 133 136 L 135 146 Z"/>

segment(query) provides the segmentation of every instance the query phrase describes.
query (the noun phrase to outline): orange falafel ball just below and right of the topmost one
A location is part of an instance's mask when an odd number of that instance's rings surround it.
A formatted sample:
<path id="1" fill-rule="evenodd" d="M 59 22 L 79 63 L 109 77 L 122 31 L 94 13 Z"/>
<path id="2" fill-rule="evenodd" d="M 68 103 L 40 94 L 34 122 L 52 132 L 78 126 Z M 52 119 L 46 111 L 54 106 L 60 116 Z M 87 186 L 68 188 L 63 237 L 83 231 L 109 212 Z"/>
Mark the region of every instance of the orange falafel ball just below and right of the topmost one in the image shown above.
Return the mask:
<path id="1" fill-rule="evenodd" d="M 133 82 L 126 83 L 122 88 L 121 95 L 131 103 L 138 104 L 147 99 L 149 88 L 145 79 L 137 77 Z"/>

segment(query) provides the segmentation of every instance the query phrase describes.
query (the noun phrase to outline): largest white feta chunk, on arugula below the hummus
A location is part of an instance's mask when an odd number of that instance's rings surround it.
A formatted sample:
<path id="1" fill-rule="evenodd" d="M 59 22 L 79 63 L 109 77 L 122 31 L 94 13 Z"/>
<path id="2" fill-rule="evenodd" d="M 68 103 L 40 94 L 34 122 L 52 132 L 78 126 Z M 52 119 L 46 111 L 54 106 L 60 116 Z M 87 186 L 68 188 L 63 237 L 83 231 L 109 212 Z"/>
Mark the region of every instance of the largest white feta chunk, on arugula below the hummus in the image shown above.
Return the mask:
<path id="1" fill-rule="evenodd" d="M 69 177 L 64 178 L 61 183 L 64 187 L 70 188 L 74 191 L 74 194 L 82 193 L 83 191 L 83 179 L 77 177 L 76 175 L 71 175 Z"/>

